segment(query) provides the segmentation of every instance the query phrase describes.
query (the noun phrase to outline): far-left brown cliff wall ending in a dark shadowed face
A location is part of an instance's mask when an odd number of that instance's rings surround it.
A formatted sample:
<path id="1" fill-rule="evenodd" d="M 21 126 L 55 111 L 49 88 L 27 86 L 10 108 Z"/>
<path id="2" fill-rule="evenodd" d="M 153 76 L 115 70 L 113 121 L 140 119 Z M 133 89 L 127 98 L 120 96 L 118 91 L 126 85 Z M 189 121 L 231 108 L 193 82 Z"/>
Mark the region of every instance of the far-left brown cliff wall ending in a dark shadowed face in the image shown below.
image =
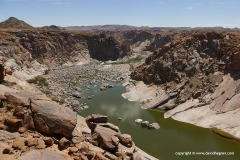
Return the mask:
<path id="1" fill-rule="evenodd" d="M 111 37 L 64 31 L 1 32 L 1 55 L 14 58 L 17 64 L 37 60 L 46 65 L 77 62 L 95 58 L 116 60 L 123 56 L 119 44 Z"/>

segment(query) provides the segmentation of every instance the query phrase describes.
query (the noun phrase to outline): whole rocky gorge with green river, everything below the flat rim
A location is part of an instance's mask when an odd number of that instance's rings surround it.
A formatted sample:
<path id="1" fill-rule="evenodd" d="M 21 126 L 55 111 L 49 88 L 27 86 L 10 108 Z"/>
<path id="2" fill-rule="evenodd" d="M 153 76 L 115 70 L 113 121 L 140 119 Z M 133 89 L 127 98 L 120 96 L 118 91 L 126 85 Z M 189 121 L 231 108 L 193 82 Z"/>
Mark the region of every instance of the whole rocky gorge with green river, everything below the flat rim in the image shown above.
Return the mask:
<path id="1" fill-rule="evenodd" d="M 240 157 L 238 32 L 1 29 L 0 40 L 1 157 Z"/>

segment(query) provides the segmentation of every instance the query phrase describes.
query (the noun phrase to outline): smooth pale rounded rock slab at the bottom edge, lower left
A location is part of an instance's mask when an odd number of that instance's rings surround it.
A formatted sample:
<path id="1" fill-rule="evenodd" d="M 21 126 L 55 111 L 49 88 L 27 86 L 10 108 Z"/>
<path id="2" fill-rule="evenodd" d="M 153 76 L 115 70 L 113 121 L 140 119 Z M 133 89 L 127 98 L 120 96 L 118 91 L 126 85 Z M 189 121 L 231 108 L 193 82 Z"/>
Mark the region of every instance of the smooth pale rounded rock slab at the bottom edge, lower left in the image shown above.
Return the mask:
<path id="1" fill-rule="evenodd" d="M 44 150 L 31 150 L 26 152 L 18 160 L 66 160 L 58 152 L 50 149 Z"/>

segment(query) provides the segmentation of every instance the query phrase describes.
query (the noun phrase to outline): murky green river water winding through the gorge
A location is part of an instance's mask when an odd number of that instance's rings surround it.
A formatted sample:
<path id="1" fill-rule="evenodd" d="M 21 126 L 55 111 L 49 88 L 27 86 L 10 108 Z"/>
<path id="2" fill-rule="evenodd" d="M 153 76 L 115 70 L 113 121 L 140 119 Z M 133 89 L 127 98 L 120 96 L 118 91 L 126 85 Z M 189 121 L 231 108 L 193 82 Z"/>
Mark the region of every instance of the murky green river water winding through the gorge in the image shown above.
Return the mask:
<path id="1" fill-rule="evenodd" d="M 93 113 L 107 115 L 110 123 L 132 136 L 136 146 L 160 160 L 240 160 L 240 142 L 220 137 L 210 129 L 164 119 L 164 112 L 159 110 L 143 110 L 138 103 L 125 100 L 121 96 L 124 92 L 121 84 L 106 91 L 99 91 L 99 86 L 95 86 L 85 93 L 94 95 L 93 99 L 80 99 L 89 108 L 79 114 L 84 117 Z M 122 120 L 118 120 L 119 117 Z M 161 128 L 142 128 L 134 122 L 137 118 L 157 122 Z M 196 155 L 198 152 L 234 152 L 234 155 Z"/>

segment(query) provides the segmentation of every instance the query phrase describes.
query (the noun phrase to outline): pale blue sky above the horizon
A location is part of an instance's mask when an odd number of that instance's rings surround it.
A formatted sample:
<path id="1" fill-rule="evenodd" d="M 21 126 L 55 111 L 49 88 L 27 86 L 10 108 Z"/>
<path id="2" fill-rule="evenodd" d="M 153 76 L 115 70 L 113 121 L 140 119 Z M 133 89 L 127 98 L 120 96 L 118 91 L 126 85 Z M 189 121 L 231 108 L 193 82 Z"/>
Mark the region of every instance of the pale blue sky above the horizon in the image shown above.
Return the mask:
<path id="1" fill-rule="evenodd" d="M 240 27 L 240 0 L 0 0 L 0 21 L 33 26 Z"/>

